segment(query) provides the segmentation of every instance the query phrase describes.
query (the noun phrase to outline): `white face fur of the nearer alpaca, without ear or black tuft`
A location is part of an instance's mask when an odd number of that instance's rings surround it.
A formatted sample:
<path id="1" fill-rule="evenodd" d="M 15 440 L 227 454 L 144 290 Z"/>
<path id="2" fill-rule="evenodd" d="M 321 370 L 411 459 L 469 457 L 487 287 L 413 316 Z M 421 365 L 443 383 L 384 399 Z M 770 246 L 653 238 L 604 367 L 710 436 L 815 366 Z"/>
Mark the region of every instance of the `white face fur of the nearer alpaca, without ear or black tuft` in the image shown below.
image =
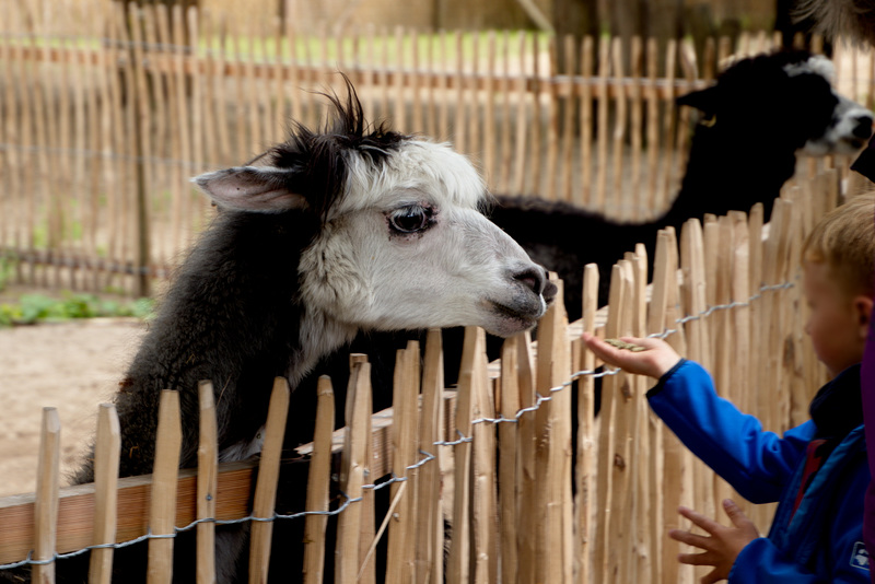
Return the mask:
<path id="1" fill-rule="evenodd" d="M 535 325 L 544 270 L 478 212 L 483 183 L 467 159 L 411 140 L 375 173 L 347 154 L 347 190 L 301 257 L 308 309 L 375 329 L 476 325 L 510 336 Z"/>

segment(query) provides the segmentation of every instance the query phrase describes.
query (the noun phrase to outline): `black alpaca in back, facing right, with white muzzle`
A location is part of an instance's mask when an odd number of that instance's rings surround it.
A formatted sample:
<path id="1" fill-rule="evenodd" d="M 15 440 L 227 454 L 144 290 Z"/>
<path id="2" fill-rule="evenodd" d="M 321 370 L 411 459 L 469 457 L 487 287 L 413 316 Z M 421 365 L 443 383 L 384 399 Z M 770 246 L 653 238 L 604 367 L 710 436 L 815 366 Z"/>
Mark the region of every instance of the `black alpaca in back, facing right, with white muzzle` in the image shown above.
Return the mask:
<path id="1" fill-rule="evenodd" d="M 490 219 L 538 264 L 564 282 L 569 318 L 581 316 L 583 266 L 600 275 L 599 305 L 607 302 L 611 266 L 637 243 L 652 267 L 658 230 L 705 213 L 749 211 L 763 205 L 769 220 L 796 155 L 852 154 L 872 135 L 873 114 L 830 85 L 832 63 L 805 51 L 743 59 L 714 85 L 684 95 L 700 109 L 680 191 L 668 211 L 650 223 L 616 223 L 562 202 L 497 197 Z"/>

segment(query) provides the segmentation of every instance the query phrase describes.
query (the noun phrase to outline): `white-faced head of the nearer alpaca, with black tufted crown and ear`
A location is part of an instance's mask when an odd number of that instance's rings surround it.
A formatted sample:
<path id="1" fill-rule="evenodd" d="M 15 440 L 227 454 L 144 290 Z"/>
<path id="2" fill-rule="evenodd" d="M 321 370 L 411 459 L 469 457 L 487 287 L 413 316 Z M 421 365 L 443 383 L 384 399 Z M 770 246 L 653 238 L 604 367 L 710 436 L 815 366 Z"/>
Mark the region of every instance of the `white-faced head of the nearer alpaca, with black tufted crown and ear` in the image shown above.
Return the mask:
<path id="1" fill-rule="evenodd" d="M 509 336 L 535 325 L 556 293 L 540 266 L 479 208 L 471 163 L 440 144 L 368 128 L 354 92 L 329 128 L 298 127 L 264 165 L 196 183 L 220 208 L 310 215 L 299 299 L 327 324 L 364 329 L 480 326 Z M 290 222 L 290 229 L 294 225 Z M 281 249 L 265 249 L 277 256 Z"/>

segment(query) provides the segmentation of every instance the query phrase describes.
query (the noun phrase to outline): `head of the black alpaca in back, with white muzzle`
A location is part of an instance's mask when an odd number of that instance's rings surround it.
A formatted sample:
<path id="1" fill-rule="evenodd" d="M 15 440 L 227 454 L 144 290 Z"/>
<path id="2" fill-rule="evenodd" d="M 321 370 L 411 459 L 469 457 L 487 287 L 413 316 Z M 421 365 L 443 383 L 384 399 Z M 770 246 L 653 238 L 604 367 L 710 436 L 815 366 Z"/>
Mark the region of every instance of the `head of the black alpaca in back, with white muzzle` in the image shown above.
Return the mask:
<path id="1" fill-rule="evenodd" d="M 815 156 L 852 154 L 872 135 L 873 114 L 832 87 L 822 56 L 781 51 L 742 59 L 714 85 L 678 103 L 700 109 L 704 124 L 733 144 Z M 718 128 L 719 126 L 719 128 Z"/>

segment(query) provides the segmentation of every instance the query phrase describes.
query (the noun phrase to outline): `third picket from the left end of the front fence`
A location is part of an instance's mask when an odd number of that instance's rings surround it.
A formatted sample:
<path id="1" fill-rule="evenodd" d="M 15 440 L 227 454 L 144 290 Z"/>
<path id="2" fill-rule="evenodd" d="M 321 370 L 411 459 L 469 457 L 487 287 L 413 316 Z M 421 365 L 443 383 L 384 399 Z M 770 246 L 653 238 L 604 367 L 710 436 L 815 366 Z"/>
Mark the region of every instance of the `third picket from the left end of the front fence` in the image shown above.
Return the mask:
<path id="1" fill-rule="evenodd" d="M 149 584 L 173 581 L 173 536 L 176 535 L 176 483 L 179 475 L 179 452 L 183 427 L 179 416 L 179 393 L 162 389 L 158 411 L 158 437 L 149 498 Z M 171 537 L 154 537 L 171 536 Z"/>

